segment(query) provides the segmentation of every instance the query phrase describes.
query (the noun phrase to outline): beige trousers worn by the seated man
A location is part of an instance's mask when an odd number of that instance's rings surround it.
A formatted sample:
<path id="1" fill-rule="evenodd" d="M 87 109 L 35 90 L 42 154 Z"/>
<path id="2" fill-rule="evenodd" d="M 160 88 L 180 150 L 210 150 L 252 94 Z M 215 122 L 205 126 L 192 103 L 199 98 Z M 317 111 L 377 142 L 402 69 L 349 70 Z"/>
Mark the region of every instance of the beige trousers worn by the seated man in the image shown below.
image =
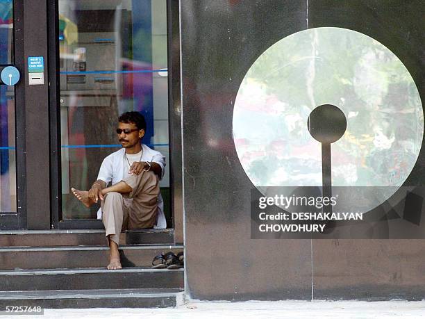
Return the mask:
<path id="1" fill-rule="evenodd" d="M 123 181 L 133 188 L 130 193 L 110 192 L 101 201 L 106 236 L 110 236 L 117 245 L 122 230 L 151 228 L 156 224 L 158 213 L 159 182 L 156 174 L 142 171 L 138 175 L 129 175 Z"/>

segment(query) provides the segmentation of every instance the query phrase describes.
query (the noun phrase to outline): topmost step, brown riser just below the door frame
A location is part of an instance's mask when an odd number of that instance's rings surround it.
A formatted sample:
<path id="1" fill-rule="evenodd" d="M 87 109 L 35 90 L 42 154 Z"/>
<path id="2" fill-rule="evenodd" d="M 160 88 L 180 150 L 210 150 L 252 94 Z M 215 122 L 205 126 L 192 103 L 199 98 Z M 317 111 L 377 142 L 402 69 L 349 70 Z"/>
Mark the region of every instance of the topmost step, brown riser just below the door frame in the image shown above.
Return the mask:
<path id="1" fill-rule="evenodd" d="M 120 236 L 122 245 L 174 244 L 174 229 L 132 229 Z M 106 245 L 102 229 L 0 231 L 0 247 Z"/>

